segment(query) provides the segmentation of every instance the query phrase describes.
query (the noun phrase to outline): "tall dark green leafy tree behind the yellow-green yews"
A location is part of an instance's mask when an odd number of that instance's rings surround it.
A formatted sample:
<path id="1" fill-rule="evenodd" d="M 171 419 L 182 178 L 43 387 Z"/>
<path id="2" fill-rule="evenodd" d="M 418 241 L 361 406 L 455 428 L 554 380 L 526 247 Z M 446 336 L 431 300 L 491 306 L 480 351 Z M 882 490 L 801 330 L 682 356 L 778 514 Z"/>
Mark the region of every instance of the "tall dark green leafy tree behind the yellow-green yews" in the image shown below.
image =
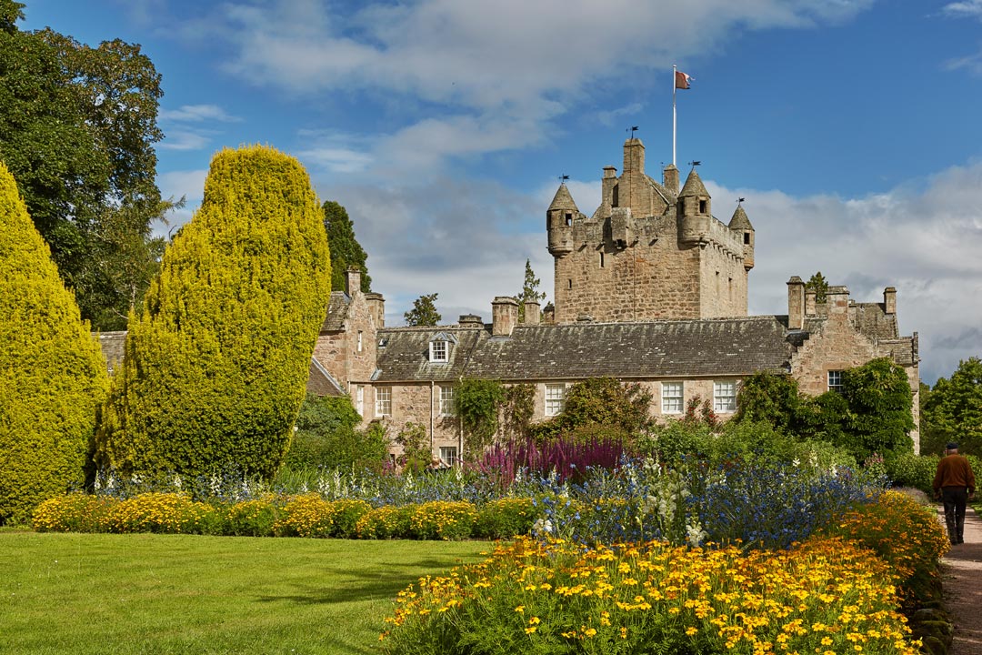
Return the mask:
<path id="1" fill-rule="evenodd" d="M 0 159 L 82 317 L 121 328 L 162 251 L 150 223 L 173 206 L 154 180 L 160 76 L 138 45 L 20 31 L 22 7 L 0 0 Z"/>

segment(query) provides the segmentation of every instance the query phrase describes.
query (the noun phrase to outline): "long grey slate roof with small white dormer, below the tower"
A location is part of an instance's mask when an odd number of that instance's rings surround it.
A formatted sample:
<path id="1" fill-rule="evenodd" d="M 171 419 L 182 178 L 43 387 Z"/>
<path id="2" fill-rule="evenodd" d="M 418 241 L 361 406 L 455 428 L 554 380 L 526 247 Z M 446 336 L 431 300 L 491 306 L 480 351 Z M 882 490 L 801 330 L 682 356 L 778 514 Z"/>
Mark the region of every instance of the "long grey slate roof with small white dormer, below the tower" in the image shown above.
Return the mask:
<path id="1" fill-rule="evenodd" d="M 793 350 L 782 316 L 637 323 L 518 325 L 510 337 L 441 326 L 379 332 L 376 382 L 741 376 L 787 370 Z M 437 331 L 458 335 L 450 361 L 427 360 Z"/>

